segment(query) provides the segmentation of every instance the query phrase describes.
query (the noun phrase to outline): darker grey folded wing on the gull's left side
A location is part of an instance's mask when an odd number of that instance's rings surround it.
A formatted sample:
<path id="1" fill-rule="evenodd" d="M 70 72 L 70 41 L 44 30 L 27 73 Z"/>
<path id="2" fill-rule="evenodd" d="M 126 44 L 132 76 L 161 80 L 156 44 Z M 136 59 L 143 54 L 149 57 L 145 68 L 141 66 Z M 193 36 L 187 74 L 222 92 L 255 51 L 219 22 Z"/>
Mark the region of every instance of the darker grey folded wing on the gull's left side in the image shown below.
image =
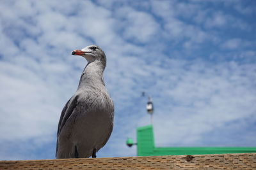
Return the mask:
<path id="1" fill-rule="evenodd" d="M 77 106 L 77 98 L 76 97 L 71 97 L 68 102 L 65 104 L 63 110 L 61 111 L 61 115 L 60 115 L 60 121 L 58 124 L 58 131 L 57 131 L 57 138 L 61 132 L 62 127 L 65 125 L 65 123 L 67 122 L 68 118 L 70 117 L 70 115 L 72 114 L 72 112 L 74 111 L 74 109 Z M 57 139 L 57 143 L 56 143 L 56 155 L 58 152 L 58 139 Z"/>

